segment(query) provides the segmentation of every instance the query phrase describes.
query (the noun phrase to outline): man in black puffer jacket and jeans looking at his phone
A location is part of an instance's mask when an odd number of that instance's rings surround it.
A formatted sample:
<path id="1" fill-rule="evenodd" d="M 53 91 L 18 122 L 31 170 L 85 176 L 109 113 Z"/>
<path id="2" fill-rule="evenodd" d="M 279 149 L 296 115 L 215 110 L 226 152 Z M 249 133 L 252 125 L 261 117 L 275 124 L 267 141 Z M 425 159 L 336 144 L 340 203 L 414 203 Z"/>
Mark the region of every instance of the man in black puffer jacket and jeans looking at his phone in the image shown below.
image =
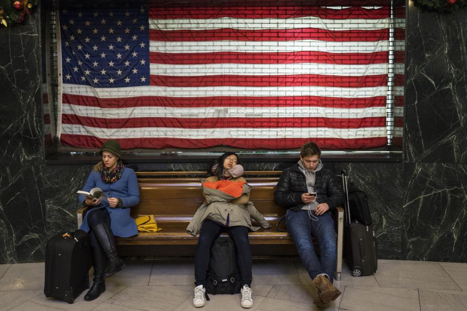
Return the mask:
<path id="1" fill-rule="evenodd" d="M 331 210 L 343 202 L 343 192 L 334 174 L 323 168 L 321 150 L 307 142 L 300 159 L 282 172 L 274 201 L 287 208 L 286 226 L 313 284 L 318 288 L 315 305 L 325 308 L 341 292 L 332 285 L 337 247 Z M 316 256 L 311 236 L 318 241 L 321 259 Z"/>

